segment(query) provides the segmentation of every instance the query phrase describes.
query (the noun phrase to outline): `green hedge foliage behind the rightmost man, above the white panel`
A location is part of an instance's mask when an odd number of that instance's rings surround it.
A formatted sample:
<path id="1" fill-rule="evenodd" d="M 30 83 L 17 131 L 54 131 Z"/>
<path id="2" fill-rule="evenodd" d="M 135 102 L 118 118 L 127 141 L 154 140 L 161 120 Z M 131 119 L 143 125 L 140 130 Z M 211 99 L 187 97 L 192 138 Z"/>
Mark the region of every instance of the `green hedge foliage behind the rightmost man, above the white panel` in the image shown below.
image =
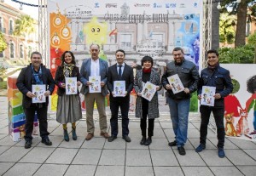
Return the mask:
<path id="1" fill-rule="evenodd" d="M 246 44 L 237 48 L 219 48 L 219 62 L 229 64 L 252 64 L 254 57 L 253 44 Z"/>

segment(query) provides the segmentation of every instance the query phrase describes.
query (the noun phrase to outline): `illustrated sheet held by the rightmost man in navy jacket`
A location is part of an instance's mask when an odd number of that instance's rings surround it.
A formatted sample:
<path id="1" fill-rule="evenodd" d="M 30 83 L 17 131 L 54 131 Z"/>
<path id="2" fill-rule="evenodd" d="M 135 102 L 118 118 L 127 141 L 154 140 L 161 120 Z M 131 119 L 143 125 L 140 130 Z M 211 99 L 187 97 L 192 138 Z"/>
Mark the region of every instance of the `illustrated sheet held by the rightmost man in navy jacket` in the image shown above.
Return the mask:
<path id="1" fill-rule="evenodd" d="M 216 88 L 211 86 L 203 86 L 201 91 L 201 105 L 214 106 L 214 94 Z"/>

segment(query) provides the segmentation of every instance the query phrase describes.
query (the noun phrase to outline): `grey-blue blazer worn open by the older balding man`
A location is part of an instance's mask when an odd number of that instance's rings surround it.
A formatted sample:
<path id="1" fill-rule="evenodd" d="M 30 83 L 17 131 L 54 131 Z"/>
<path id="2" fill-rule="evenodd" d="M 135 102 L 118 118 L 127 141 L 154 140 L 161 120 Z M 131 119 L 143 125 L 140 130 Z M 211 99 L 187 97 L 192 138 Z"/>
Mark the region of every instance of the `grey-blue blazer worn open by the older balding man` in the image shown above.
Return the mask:
<path id="1" fill-rule="evenodd" d="M 81 75 L 81 82 L 83 83 L 83 86 L 80 91 L 81 94 L 89 93 L 89 87 L 86 86 L 86 83 L 89 81 L 89 77 L 90 77 L 90 64 L 91 64 L 91 58 L 84 60 L 81 66 L 80 75 Z M 101 81 L 105 82 L 105 85 L 102 88 L 102 95 L 106 96 L 108 94 L 108 88 L 107 88 L 108 62 L 105 60 L 99 59 L 99 65 L 100 65 Z"/>

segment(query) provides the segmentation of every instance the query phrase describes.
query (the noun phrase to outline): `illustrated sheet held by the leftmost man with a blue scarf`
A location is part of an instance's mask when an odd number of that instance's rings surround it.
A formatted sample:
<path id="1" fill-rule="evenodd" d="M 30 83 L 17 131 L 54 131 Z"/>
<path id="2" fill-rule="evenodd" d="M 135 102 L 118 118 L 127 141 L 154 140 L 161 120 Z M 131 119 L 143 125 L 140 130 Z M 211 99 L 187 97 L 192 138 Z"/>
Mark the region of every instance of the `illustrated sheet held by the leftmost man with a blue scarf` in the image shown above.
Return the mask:
<path id="1" fill-rule="evenodd" d="M 32 98 L 32 103 L 45 103 L 46 99 L 44 96 L 45 93 L 45 84 L 35 85 L 32 84 L 32 94 L 36 96 Z"/>

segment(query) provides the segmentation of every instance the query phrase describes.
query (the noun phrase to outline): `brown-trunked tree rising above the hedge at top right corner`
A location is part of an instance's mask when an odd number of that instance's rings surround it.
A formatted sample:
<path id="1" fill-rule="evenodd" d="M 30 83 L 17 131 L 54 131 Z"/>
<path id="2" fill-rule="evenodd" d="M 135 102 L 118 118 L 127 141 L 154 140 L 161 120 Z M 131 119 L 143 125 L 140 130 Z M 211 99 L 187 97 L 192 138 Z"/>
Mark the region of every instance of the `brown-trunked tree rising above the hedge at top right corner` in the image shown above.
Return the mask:
<path id="1" fill-rule="evenodd" d="M 236 0 L 223 0 L 221 3 L 224 9 L 221 10 L 221 13 L 229 13 L 236 15 L 236 37 L 235 37 L 235 47 L 245 45 L 246 38 L 246 24 L 247 24 L 247 10 L 249 9 L 255 19 L 255 9 L 256 1 L 255 0 L 241 0 L 241 3 L 236 3 Z M 228 9 L 231 9 L 228 11 Z"/>

